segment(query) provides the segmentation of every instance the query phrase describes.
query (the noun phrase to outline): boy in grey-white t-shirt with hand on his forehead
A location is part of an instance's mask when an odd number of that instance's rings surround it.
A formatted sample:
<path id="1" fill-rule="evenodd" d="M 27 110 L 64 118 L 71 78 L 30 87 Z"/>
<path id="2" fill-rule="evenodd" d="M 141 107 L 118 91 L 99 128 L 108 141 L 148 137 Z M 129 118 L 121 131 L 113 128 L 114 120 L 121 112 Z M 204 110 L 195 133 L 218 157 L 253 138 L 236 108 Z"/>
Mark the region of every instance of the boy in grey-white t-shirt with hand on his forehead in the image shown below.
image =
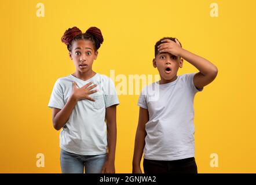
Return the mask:
<path id="1" fill-rule="evenodd" d="M 177 76 L 183 59 L 199 72 Z M 138 100 L 133 173 L 198 173 L 195 162 L 193 99 L 213 82 L 218 69 L 206 59 L 182 49 L 176 38 L 162 38 L 155 45 L 153 67 L 160 81 L 145 87 Z M 153 86 L 158 86 L 153 90 Z M 157 89 L 157 90 L 156 90 Z M 158 92 L 156 92 L 158 91 Z M 152 100 L 150 94 L 159 94 Z"/>

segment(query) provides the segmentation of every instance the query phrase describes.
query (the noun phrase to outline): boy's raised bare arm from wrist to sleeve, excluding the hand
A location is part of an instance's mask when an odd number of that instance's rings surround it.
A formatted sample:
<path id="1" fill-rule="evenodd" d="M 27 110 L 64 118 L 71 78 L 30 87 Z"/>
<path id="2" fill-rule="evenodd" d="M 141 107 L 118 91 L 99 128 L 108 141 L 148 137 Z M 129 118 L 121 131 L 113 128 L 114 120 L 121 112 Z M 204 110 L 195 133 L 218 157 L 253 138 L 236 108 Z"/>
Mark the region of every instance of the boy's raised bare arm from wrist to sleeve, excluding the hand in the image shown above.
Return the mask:
<path id="1" fill-rule="evenodd" d="M 207 86 L 209 83 L 213 82 L 217 76 L 217 67 L 203 57 L 197 56 L 196 54 L 193 54 L 185 49 L 181 50 L 180 57 L 184 58 L 199 70 L 193 79 L 193 82 L 197 88 Z"/>

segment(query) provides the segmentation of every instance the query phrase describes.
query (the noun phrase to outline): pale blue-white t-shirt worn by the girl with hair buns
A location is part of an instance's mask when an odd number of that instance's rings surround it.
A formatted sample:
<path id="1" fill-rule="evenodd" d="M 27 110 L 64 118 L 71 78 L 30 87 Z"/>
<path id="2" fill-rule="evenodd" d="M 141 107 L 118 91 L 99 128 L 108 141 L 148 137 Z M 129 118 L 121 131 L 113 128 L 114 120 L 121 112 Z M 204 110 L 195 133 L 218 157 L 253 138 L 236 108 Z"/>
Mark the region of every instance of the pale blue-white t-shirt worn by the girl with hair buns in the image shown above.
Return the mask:
<path id="1" fill-rule="evenodd" d="M 93 90 L 99 90 L 89 96 L 96 101 L 79 100 L 72 110 L 70 118 L 60 132 L 60 147 L 70 153 L 80 155 L 99 155 L 107 153 L 107 125 L 105 110 L 118 105 L 118 95 L 112 80 L 96 73 L 89 80 L 81 80 L 68 75 L 56 81 L 48 106 L 63 109 L 71 95 L 73 82 L 80 88 L 89 82 L 97 84 Z"/>

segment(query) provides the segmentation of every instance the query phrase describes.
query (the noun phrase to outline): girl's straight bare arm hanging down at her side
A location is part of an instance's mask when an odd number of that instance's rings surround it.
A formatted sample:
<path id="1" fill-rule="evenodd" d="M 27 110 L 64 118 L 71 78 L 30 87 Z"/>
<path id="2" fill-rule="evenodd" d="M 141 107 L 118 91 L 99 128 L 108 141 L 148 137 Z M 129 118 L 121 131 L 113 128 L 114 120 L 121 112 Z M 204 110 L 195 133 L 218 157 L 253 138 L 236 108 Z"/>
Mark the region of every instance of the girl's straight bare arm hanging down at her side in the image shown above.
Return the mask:
<path id="1" fill-rule="evenodd" d="M 115 173 L 116 150 L 116 105 L 106 109 L 108 157 L 103 165 L 102 173 Z"/>

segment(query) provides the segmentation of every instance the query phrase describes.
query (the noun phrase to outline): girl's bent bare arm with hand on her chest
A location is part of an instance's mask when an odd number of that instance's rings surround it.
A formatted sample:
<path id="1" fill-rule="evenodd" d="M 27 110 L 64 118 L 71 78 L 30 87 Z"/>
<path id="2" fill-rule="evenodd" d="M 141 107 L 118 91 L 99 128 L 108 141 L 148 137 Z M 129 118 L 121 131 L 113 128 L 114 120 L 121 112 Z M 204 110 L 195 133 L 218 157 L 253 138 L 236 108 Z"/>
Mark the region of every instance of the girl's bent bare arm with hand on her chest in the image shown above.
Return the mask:
<path id="1" fill-rule="evenodd" d="M 57 129 L 57 131 L 61 129 L 65 123 L 67 123 L 72 113 L 72 110 L 74 109 L 76 103 L 80 99 L 88 99 L 90 101 L 95 101 L 93 98 L 89 97 L 89 95 L 97 92 L 97 90 L 92 90 L 94 87 L 97 86 L 97 84 L 94 84 L 92 86 L 90 86 L 90 84 L 92 84 L 92 82 L 87 83 L 85 86 L 81 88 L 77 88 L 76 83 L 74 82 L 72 94 L 68 99 L 67 103 L 65 104 L 64 108 L 53 108 L 53 127 Z"/>

